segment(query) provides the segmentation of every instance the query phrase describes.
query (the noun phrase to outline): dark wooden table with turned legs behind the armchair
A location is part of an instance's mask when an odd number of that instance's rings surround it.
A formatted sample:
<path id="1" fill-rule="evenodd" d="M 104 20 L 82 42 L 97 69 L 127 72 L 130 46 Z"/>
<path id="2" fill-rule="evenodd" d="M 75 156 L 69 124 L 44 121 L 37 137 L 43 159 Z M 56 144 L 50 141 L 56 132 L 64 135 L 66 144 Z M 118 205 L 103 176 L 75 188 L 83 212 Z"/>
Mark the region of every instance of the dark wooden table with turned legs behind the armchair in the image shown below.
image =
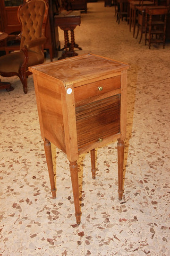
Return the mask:
<path id="1" fill-rule="evenodd" d="M 54 16 L 54 21 L 55 26 L 64 30 L 64 52 L 59 59 L 78 55 L 74 48 L 79 50 L 82 50 L 82 48 L 75 43 L 74 29 L 76 26 L 80 26 L 80 11 L 62 11 L 59 15 Z M 69 42 L 68 31 L 71 34 L 71 43 Z"/>

